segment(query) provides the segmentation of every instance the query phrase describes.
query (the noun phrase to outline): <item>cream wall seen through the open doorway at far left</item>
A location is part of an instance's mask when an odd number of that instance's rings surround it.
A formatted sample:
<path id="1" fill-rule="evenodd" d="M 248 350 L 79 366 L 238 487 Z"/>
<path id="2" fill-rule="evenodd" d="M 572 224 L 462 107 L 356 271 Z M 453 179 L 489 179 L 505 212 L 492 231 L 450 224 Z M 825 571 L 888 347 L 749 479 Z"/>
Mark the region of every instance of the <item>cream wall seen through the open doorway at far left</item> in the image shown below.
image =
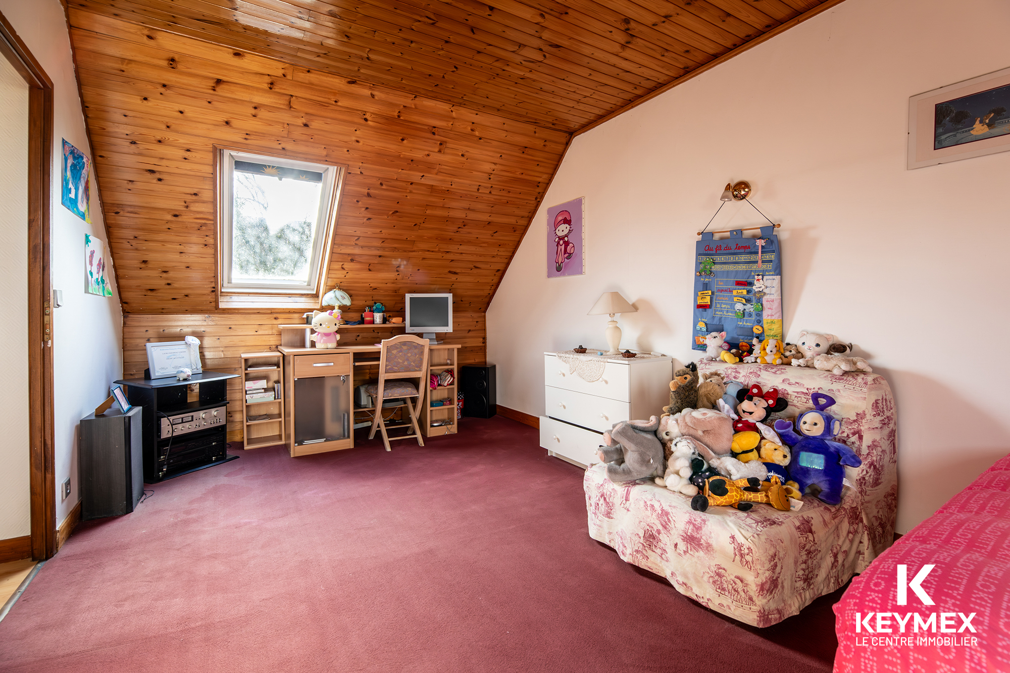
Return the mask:
<path id="1" fill-rule="evenodd" d="M 0 540 L 31 533 L 28 486 L 28 85 L 0 56 Z"/>

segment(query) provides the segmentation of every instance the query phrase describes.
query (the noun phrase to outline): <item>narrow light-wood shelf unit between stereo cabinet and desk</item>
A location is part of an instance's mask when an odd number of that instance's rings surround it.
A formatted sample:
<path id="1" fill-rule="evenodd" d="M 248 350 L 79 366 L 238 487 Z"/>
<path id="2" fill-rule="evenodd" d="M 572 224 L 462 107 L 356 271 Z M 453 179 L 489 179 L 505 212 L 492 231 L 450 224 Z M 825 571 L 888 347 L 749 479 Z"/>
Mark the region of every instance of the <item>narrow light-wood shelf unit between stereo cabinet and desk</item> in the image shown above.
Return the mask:
<path id="1" fill-rule="evenodd" d="M 284 444 L 284 356 L 276 351 L 243 353 L 242 442 L 245 449 Z"/>

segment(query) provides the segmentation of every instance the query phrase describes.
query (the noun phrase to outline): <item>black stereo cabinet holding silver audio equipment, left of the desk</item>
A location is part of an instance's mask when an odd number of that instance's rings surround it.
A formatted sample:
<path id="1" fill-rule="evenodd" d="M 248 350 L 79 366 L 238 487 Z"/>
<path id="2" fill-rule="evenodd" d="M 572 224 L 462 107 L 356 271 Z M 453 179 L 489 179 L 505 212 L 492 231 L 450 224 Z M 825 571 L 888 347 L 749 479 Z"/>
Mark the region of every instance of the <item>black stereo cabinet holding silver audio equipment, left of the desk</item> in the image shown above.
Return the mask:
<path id="1" fill-rule="evenodd" d="M 237 374 L 205 371 L 194 374 L 188 381 L 177 381 L 175 377 L 116 381 L 125 386 L 129 403 L 143 408 L 144 483 L 156 484 L 238 458 L 226 452 L 227 423 L 175 438 L 159 437 L 161 419 L 165 416 L 226 405 L 227 380 L 237 377 Z M 186 387 L 193 383 L 200 386 L 200 399 L 188 402 Z"/>

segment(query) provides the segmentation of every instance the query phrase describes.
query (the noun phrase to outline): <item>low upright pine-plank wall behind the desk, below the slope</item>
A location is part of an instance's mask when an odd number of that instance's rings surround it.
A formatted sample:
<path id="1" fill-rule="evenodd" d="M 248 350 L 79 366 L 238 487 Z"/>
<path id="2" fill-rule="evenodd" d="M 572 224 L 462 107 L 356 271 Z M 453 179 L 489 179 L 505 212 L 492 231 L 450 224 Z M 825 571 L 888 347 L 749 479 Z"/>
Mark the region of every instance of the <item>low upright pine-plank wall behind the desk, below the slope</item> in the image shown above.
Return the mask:
<path id="1" fill-rule="evenodd" d="M 144 347 L 148 342 L 176 342 L 185 336 L 200 340 L 200 357 L 204 369 L 238 374 L 239 355 L 276 351 L 281 344 L 279 324 L 302 321 L 301 313 L 217 313 L 217 314 L 138 314 L 123 315 L 123 377 L 143 376 L 147 367 Z M 484 313 L 452 314 L 454 331 L 445 334 L 446 342 L 462 344 L 460 362 L 483 363 L 487 354 L 487 332 Z M 377 344 L 383 339 L 402 334 L 403 329 L 342 329 L 340 345 Z M 228 381 L 228 441 L 242 440 L 242 387 L 240 379 Z"/>

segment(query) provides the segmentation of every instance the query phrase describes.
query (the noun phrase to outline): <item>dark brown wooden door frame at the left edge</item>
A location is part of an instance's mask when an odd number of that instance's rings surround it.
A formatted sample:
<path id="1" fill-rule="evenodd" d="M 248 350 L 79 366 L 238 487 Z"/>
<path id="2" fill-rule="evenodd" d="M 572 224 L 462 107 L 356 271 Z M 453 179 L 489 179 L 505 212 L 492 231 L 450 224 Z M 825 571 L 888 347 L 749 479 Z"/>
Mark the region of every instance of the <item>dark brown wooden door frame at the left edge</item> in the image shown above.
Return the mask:
<path id="1" fill-rule="evenodd" d="M 57 552 L 49 259 L 53 81 L 0 12 L 0 54 L 28 84 L 28 439 L 31 558 Z"/>

